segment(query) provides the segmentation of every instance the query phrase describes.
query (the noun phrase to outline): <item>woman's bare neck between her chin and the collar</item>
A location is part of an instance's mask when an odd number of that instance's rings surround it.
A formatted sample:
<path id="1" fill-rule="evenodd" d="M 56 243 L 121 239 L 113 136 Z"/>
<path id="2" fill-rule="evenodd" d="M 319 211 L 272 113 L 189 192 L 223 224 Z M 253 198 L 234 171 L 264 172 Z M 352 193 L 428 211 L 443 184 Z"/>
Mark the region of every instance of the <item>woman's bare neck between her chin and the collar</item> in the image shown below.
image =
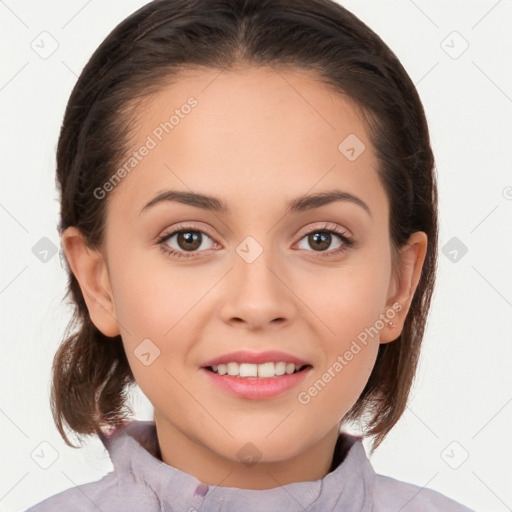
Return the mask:
<path id="1" fill-rule="evenodd" d="M 338 440 L 338 425 L 335 425 L 325 437 L 290 459 L 244 464 L 189 439 L 168 421 L 162 421 L 156 410 L 155 424 L 165 464 L 208 485 L 240 489 L 272 489 L 295 482 L 320 480 L 331 471 Z"/>

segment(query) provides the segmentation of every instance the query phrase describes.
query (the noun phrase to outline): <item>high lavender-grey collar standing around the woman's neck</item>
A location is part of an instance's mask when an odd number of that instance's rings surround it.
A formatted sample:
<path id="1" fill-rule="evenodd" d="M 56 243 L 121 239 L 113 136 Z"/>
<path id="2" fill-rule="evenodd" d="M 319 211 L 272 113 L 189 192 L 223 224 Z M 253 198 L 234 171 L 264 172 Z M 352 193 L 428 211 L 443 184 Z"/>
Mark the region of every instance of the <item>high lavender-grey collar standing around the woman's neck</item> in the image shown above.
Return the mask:
<path id="1" fill-rule="evenodd" d="M 207 485 L 162 462 L 155 423 L 132 421 L 103 437 L 118 490 L 124 496 L 141 489 L 151 510 L 371 511 L 375 472 L 360 438 L 341 433 L 333 470 L 321 480 L 297 482 L 273 489 L 252 490 Z M 309 507 L 309 508 L 308 508 Z"/>

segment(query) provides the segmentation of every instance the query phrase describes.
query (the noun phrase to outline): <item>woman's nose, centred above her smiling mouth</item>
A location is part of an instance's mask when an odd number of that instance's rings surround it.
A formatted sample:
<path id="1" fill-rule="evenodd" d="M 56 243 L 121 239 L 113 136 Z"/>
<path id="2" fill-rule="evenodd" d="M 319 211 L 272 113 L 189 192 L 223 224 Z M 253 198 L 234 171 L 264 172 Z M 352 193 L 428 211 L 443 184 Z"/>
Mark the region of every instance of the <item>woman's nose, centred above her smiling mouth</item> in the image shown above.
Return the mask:
<path id="1" fill-rule="evenodd" d="M 250 330 L 291 323 L 297 298 L 280 268 L 265 251 L 252 263 L 235 255 L 223 288 L 223 321 Z"/>

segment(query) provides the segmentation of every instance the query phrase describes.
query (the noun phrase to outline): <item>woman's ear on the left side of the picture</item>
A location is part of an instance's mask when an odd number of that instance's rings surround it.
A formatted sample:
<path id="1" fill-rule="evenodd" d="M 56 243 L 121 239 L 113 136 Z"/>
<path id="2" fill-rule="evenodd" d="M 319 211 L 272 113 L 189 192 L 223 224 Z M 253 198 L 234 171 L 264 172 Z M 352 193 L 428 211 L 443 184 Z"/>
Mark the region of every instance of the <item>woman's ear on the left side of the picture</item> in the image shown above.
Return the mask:
<path id="1" fill-rule="evenodd" d="M 62 249 L 80 285 L 92 322 L 105 336 L 117 336 L 120 330 L 103 255 L 87 246 L 82 233 L 75 227 L 63 231 Z"/>

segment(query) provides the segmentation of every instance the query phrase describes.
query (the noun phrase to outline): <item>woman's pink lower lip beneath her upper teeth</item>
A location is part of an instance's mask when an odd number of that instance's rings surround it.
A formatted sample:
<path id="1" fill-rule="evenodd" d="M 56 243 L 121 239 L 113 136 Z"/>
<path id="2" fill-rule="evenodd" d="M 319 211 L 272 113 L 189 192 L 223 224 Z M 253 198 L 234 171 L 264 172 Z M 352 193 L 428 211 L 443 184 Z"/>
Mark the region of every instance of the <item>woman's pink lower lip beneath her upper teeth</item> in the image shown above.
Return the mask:
<path id="1" fill-rule="evenodd" d="M 206 372 L 211 382 L 232 395 L 251 400 L 265 400 L 298 386 L 305 379 L 311 367 L 291 375 L 281 375 L 267 379 L 219 375 L 206 368 L 201 368 L 201 370 Z"/>

